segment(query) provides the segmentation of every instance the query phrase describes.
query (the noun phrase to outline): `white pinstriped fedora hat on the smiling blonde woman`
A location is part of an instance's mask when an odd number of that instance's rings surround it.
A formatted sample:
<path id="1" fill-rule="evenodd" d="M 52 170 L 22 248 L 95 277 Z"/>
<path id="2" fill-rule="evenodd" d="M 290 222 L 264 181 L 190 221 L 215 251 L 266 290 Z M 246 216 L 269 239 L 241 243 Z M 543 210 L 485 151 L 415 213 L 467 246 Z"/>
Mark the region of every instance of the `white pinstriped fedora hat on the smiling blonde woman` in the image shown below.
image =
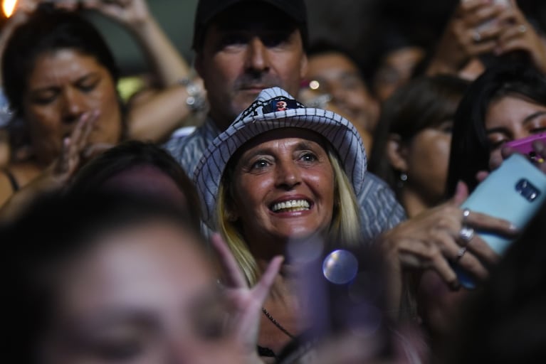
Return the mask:
<path id="1" fill-rule="evenodd" d="M 345 117 L 325 109 L 305 107 L 280 87 L 262 90 L 256 100 L 222 132 L 201 157 L 194 173 L 204 222 L 216 225 L 216 198 L 231 157 L 247 141 L 275 129 L 308 129 L 330 142 L 355 193 L 362 190 L 366 153 L 357 129 Z"/>

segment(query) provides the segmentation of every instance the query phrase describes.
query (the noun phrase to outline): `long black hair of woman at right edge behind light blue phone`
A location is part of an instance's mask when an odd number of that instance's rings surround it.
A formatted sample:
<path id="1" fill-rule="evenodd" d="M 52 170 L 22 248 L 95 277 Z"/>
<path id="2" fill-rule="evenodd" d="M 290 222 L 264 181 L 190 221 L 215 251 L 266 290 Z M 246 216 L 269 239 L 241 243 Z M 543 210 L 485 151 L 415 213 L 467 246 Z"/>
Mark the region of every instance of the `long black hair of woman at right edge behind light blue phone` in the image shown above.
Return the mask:
<path id="1" fill-rule="evenodd" d="M 527 63 L 495 65 L 478 77 L 455 114 L 446 191 L 451 196 L 458 181 L 470 191 L 478 185 L 476 173 L 489 169 L 490 144 L 485 115 L 491 102 L 505 96 L 546 105 L 546 76 Z"/>

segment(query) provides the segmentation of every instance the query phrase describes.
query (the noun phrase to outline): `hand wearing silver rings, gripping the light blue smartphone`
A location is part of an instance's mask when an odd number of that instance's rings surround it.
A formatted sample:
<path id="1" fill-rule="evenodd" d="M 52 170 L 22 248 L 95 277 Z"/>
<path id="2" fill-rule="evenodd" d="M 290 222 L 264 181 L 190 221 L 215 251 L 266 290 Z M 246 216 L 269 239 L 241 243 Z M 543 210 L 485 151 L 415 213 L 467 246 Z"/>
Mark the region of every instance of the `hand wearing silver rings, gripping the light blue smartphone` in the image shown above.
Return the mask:
<path id="1" fill-rule="evenodd" d="M 457 262 L 478 279 L 488 277 L 484 265 L 498 260 L 498 255 L 478 235 L 466 235 L 464 227 L 497 232 L 512 237 L 516 228 L 508 221 L 471 212 L 463 214 L 458 206 L 468 197 L 464 183 L 446 203 L 406 220 L 380 238 L 382 249 L 394 267 L 401 269 L 434 269 L 452 288 L 458 288 L 456 273 L 449 262 Z M 461 250 L 465 247 L 464 250 Z M 461 254 L 462 252 L 462 254 Z"/>

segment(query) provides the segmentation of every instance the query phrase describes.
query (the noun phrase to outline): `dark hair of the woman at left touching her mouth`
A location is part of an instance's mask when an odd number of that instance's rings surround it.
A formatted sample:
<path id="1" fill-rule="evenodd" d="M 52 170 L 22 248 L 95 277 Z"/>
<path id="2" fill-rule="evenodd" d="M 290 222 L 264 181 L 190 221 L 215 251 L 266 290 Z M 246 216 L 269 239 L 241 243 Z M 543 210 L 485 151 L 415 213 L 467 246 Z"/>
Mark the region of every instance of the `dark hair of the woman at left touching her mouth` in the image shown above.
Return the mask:
<path id="1" fill-rule="evenodd" d="M 119 78 L 114 57 L 95 26 L 73 12 L 42 4 L 9 38 L 2 59 L 4 92 L 11 109 L 21 115 L 23 95 L 40 55 L 61 49 L 90 55 L 110 73 L 114 84 Z"/>

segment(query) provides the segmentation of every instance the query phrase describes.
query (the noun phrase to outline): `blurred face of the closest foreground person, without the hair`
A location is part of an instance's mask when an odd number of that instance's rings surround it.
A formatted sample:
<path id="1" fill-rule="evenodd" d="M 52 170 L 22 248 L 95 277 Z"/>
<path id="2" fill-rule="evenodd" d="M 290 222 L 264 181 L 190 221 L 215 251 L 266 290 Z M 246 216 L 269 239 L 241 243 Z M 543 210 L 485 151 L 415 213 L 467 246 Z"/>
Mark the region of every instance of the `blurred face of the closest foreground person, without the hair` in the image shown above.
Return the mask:
<path id="1" fill-rule="evenodd" d="M 151 220 L 107 232 L 59 264 L 43 363 L 232 363 L 226 311 L 200 243 Z"/>

